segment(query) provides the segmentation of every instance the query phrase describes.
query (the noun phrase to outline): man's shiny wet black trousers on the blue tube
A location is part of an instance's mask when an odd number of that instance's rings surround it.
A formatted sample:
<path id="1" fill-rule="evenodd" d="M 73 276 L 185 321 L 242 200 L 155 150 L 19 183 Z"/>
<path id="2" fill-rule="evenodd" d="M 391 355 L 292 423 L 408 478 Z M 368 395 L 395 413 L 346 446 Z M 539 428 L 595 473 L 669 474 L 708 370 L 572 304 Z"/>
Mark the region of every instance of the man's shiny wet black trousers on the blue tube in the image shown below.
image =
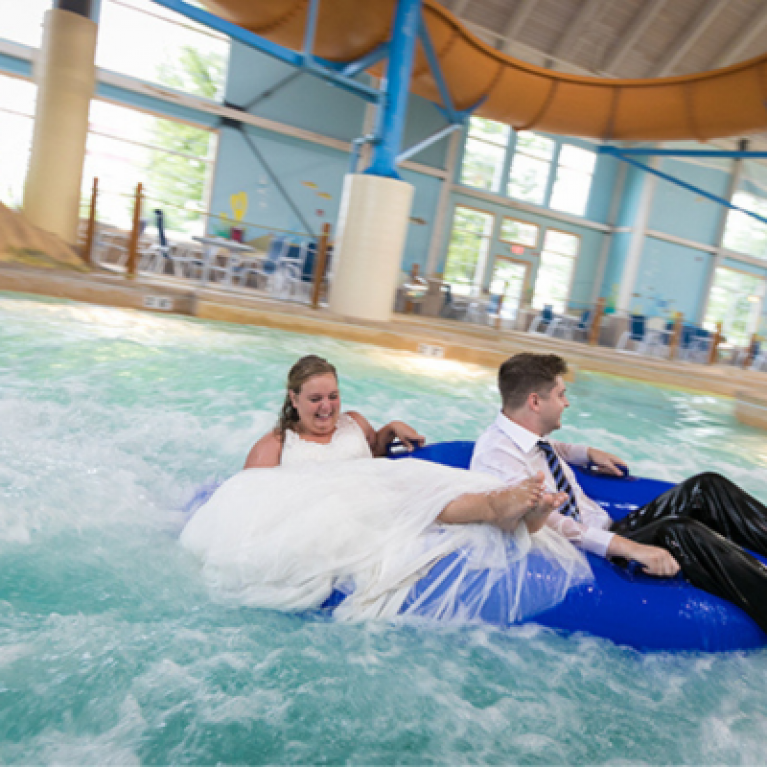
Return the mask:
<path id="1" fill-rule="evenodd" d="M 666 549 L 690 583 L 738 605 L 767 633 L 767 567 L 741 548 L 767 556 L 767 507 L 726 477 L 690 477 L 610 532 Z"/>

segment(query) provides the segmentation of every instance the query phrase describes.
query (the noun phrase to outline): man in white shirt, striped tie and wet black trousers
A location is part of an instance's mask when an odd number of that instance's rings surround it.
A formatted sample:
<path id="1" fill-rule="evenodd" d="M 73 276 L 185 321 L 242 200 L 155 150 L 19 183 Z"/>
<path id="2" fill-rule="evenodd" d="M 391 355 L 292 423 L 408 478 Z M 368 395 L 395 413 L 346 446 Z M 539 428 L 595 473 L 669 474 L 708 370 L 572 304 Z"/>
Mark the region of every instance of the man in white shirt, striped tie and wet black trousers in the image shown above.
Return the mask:
<path id="1" fill-rule="evenodd" d="M 477 440 L 471 468 L 516 483 L 543 471 L 549 490 L 569 500 L 547 524 L 602 557 L 633 559 L 645 572 L 685 578 L 745 610 L 767 632 L 767 567 L 741 547 L 767 555 L 767 508 L 724 477 L 698 474 L 622 520 L 581 489 L 568 465 L 597 464 L 623 474 L 625 463 L 585 445 L 549 440 L 567 400 L 567 363 L 555 354 L 523 353 L 498 373 L 502 408 Z"/>

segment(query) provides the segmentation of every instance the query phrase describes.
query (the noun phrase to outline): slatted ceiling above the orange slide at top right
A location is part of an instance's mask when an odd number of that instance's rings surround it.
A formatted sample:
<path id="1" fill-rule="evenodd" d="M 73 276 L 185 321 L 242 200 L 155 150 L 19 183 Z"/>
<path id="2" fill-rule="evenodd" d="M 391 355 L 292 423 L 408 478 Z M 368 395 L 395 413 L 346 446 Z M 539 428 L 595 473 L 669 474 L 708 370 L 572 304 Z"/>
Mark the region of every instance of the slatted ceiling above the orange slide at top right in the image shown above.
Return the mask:
<path id="1" fill-rule="evenodd" d="M 767 51 L 765 0 L 438 0 L 494 48 L 604 77 L 684 75 Z"/>

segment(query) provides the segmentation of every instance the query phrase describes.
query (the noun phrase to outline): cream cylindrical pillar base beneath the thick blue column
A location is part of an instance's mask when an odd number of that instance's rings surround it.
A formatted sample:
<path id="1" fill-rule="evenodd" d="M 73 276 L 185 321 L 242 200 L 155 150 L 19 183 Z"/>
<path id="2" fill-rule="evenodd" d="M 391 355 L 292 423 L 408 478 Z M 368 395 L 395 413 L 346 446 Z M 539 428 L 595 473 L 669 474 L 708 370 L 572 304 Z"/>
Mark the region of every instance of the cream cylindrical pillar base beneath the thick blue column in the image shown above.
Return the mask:
<path id="1" fill-rule="evenodd" d="M 349 174 L 338 215 L 330 310 L 388 322 L 405 247 L 413 187 L 404 181 Z"/>

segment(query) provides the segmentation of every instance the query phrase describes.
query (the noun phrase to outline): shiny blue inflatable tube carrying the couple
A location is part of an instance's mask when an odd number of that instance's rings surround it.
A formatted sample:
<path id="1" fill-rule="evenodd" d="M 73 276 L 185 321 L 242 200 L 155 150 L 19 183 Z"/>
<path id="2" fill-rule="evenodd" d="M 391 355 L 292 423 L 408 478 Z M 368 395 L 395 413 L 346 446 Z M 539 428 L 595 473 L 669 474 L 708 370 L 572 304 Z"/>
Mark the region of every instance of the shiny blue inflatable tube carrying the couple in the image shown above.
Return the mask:
<path id="1" fill-rule="evenodd" d="M 407 455 L 446 466 L 466 469 L 473 442 L 443 442 Z M 401 456 L 392 456 L 397 458 Z M 668 482 L 638 477 L 608 477 L 574 467 L 587 495 L 598 501 L 614 519 L 620 519 L 672 487 Z M 461 552 L 437 562 L 411 590 L 405 606 L 428 593 L 432 583 L 449 570 Z M 623 568 L 587 554 L 594 572 L 592 583 L 572 588 L 556 607 L 535 616 L 532 622 L 564 632 L 586 632 L 637 650 L 722 652 L 750 650 L 767 645 L 767 635 L 740 608 L 690 585 L 680 575 L 654 578 L 639 569 Z M 754 554 L 767 564 L 767 560 Z M 545 565 L 531 568 L 529 578 L 545 579 Z M 441 584 L 431 599 L 450 587 Z M 325 607 L 339 604 L 335 592 Z M 482 619 L 495 626 L 510 625 L 505 596 L 496 590 L 484 607 Z"/>

